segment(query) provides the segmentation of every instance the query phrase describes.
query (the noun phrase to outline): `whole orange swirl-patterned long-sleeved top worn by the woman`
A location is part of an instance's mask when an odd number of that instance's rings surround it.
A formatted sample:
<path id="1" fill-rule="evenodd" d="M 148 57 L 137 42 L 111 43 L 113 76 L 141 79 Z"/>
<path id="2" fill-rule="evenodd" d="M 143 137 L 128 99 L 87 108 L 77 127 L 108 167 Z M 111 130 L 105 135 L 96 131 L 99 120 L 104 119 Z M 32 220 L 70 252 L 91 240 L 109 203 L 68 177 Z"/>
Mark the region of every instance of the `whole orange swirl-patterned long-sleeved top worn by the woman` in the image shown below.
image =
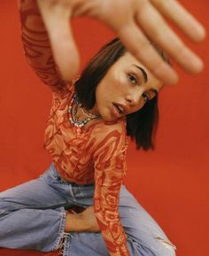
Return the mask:
<path id="1" fill-rule="evenodd" d="M 119 215 L 120 186 L 126 173 L 128 146 L 125 120 L 91 121 L 82 132 L 74 127 L 68 113 L 74 97 L 73 82 L 66 85 L 58 74 L 34 0 L 20 1 L 20 18 L 27 61 L 52 89 L 44 148 L 64 179 L 80 184 L 95 183 L 95 213 L 107 248 L 112 256 L 128 256 Z"/>

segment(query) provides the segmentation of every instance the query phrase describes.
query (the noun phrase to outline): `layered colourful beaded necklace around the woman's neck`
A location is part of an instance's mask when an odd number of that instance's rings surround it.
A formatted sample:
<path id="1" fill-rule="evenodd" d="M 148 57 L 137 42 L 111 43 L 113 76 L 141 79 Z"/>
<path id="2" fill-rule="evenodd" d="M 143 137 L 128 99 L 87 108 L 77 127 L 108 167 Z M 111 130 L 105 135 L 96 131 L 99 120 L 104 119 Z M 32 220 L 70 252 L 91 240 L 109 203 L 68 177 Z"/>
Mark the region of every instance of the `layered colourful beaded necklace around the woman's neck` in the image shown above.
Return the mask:
<path id="1" fill-rule="evenodd" d="M 84 120 L 78 120 L 78 109 L 81 108 L 81 112 L 86 116 Z M 74 95 L 70 102 L 70 106 L 68 109 L 68 112 L 70 114 L 70 122 L 76 127 L 76 128 L 82 128 L 87 123 L 89 123 L 90 120 L 97 119 L 99 116 L 96 114 L 92 114 L 90 112 L 86 112 L 86 110 L 82 107 L 82 105 L 79 103 L 79 99 L 77 95 Z"/>

